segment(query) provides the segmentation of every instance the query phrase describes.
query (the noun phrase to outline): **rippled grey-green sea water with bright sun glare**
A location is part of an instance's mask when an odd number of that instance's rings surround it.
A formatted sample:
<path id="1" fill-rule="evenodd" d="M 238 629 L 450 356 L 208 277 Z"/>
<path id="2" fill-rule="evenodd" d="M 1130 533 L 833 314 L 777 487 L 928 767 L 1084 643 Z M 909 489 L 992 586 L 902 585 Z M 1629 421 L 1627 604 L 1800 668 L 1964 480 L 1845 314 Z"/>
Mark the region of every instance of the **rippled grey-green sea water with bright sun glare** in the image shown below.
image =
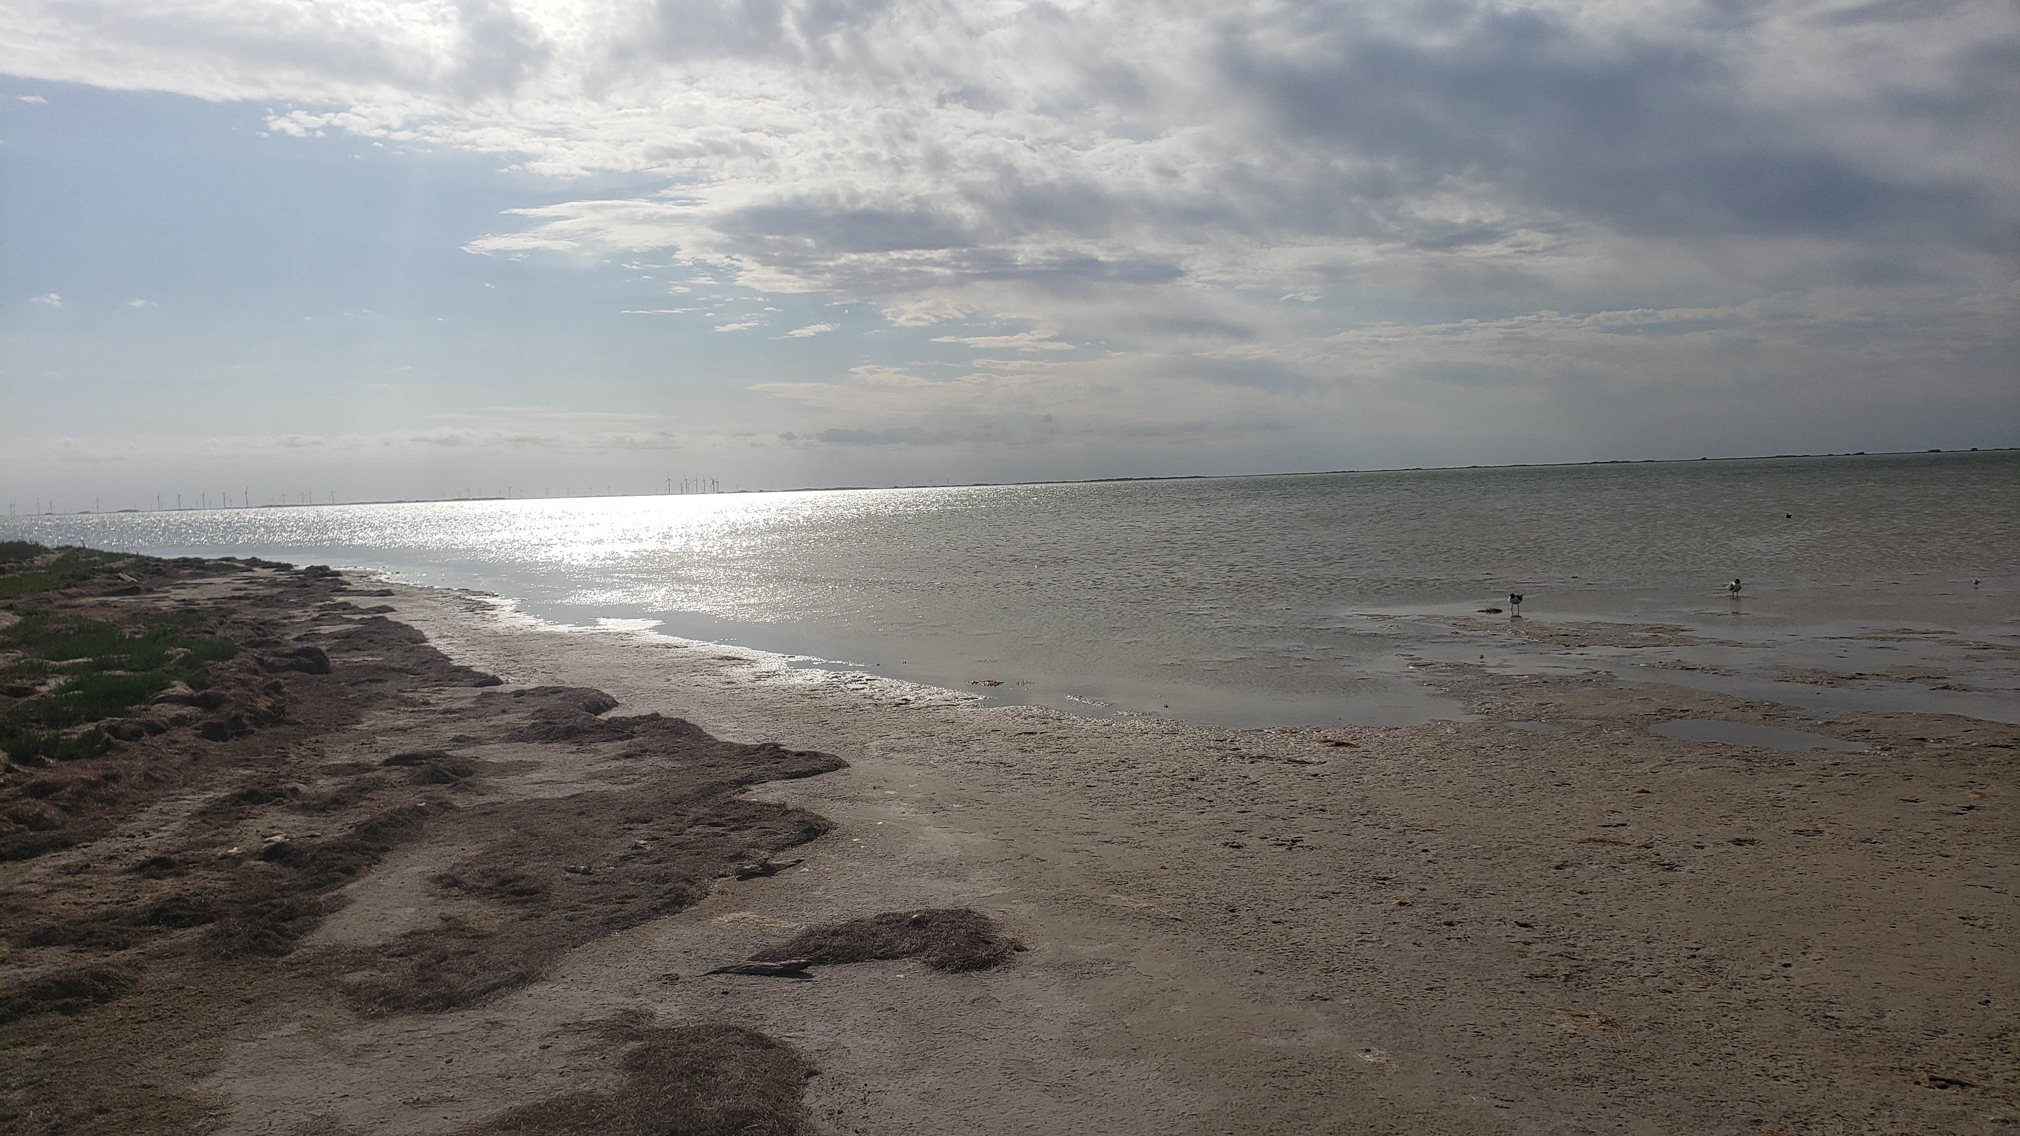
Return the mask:
<path id="1" fill-rule="evenodd" d="M 1735 681 L 1765 681 L 1761 647 L 1802 651 L 1826 627 L 2014 643 L 2016 501 L 2020 455 L 1982 453 L 190 509 L 0 532 L 382 568 L 562 623 L 659 621 L 994 701 L 1327 726 L 1458 716 L 1410 675 L 1416 659 L 1561 657 L 1454 631 L 1507 619 L 1477 608 L 1511 590 L 1531 625 L 1743 641 Z"/>

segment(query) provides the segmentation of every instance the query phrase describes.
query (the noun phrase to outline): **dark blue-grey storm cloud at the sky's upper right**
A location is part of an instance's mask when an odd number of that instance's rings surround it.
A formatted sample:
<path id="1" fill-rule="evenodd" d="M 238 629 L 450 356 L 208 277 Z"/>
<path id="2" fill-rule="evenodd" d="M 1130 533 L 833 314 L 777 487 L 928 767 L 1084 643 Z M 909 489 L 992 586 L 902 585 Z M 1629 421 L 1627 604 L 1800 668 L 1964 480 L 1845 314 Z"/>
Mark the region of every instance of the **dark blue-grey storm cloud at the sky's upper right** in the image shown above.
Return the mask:
<path id="1" fill-rule="evenodd" d="M 1355 8 L 1311 8 L 1297 53 L 1230 28 L 1220 67 L 1285 131 L 1386 166 L 1351 190 L 1481 180 L 1626 234 L 1816 234 L 1875 228 L 2012 241 L 1963 180 L 1868 168 L 1800 113 L 1745 101 L 1723 40 L 1596 36 L 1545 12 L 1440 6 L 1436 42 L 1376 30 Z M 1420 8 L 1420 12 L 1430 12 Z M 2010 99 L 1996 55 L 1957 77 L 1953 109 Z"/>

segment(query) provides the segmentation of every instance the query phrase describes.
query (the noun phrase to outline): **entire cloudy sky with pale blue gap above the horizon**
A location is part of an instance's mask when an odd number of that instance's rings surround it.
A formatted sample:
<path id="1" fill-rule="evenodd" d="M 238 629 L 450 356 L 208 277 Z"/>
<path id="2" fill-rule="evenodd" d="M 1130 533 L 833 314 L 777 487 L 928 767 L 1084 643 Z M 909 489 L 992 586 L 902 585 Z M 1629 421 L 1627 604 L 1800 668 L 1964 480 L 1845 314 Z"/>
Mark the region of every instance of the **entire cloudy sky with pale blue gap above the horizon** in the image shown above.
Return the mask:
<path id="1" fill-rule="evenodd" d="M 0 0 L 0 497 L 2020 445 L 2020 6 Z"/>

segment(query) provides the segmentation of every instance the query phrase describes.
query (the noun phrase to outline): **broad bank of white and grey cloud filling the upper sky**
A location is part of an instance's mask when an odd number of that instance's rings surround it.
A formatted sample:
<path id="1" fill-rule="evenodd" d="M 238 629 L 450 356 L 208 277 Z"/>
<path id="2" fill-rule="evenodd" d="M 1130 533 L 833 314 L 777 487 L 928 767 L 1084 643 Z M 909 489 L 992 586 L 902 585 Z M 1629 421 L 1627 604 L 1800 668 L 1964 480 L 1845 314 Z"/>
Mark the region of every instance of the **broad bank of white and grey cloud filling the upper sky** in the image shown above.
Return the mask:
<path id="1" fill-rule="evenodd" d="M 0 71 L 648 186 L 477 253 L 1093 356 L 780 398 L 1279 422 L 1733 360 L 1842 400 L 1868 327 L 1925 392 L 2010 376 L 1970 305 L 2016 275 L 2016 46 L 2010 4 L 16 0 Z"/>

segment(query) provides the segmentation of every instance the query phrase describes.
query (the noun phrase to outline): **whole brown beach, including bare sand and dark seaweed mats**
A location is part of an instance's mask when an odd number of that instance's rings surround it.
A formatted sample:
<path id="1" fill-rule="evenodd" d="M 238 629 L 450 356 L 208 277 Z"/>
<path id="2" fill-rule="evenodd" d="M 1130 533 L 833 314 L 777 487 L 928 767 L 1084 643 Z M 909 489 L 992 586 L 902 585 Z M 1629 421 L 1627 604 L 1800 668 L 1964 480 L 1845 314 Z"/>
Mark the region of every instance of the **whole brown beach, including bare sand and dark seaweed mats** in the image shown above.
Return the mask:
<path id="1" fill-rule="evenodd" d="M 2014 726 L 1424 661 L 1471 722 L 1234 732 L 360 576 L 129 576 L 0 623 L 184 610 L 240 651 L 214 705 L 6 770 L 22 1132 L 2020 1120 Z M 289 663 L 303 647 L 327 667 Z M 1673 720 L 1862 748 L 1650 732 Z M 996 964 L 709 974 L 957 910 Z"/>

